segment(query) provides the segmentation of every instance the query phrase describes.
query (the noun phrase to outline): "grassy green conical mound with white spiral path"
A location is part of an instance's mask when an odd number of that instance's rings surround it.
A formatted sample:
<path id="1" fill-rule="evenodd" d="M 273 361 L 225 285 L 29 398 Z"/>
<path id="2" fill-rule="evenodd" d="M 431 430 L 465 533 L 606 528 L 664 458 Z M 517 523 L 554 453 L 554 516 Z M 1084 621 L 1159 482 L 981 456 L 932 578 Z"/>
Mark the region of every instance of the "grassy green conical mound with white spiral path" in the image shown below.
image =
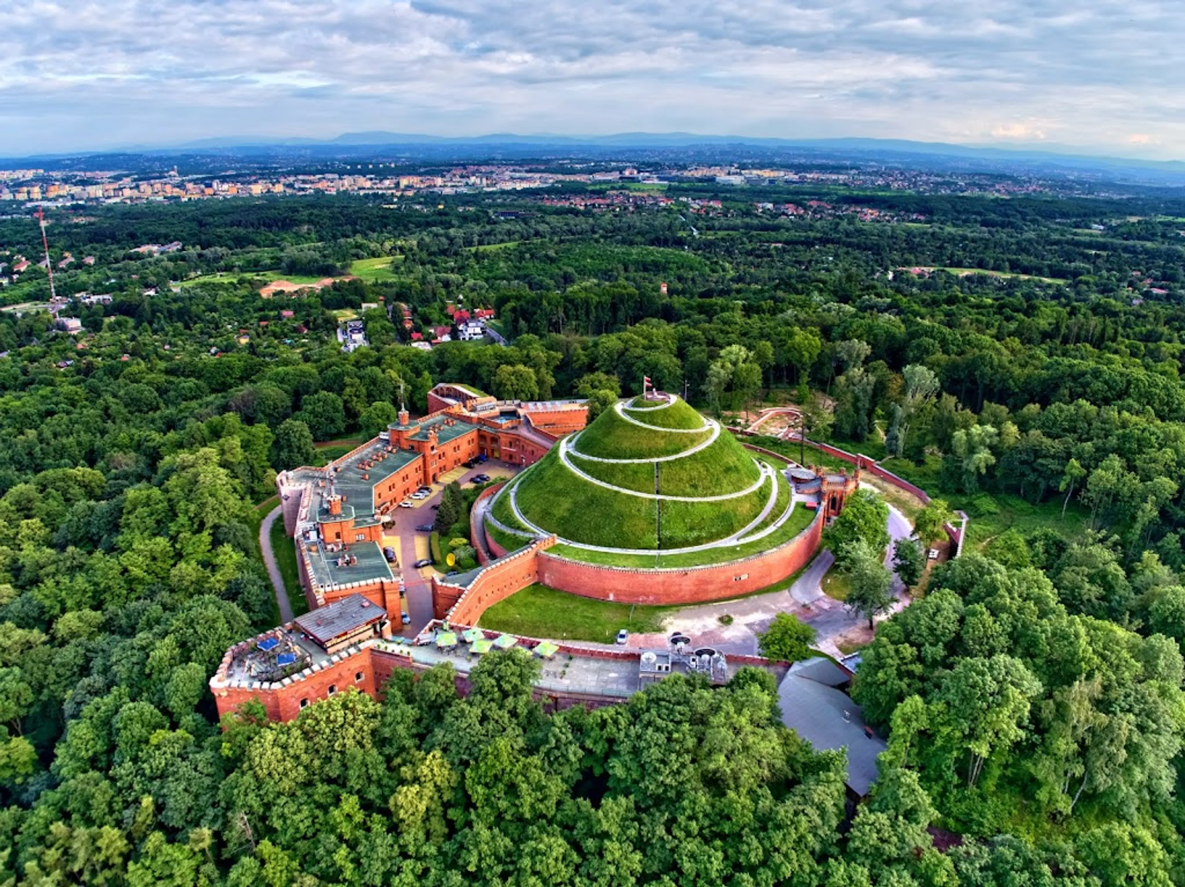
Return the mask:
<path id="1" fill-rule="evenodd" d="M 685 433 L 664 428 L 698 429 L 705 420 L 677 400 L 671 406 L 628 413 L 642 428 L 614 410 L 607 410 L 583 432 L 568 439 L 572 467 L 592 478 L 582 477 L 565 465 L 559 446 L 525 473 L 515 484 L 515 499 L 523 516 L 562 539 L 615 548 L 680 548 L 715 542 L 756 521 L 774 490 L 762 482 L 761 469 L 750 454 L 726 431 L 702 450 L 659 462 L 596 462 L 578 454 L 601 458 L 655 459 L 693 450 L 712 437 L 712 428 Z M 652 417 L 664 416 L 658 426 Z M 655 477 L 656 467 L 656 477 Z M 681 502 L 630 495 L 624 490 L 664 496 L 719 496 L 730 499 Z M 760 484 L 760 486 L 757 486 Z M 751 491 L 744 493 L 745 490 Z M 505 513 L 499 503 L 495 513 Z"/>

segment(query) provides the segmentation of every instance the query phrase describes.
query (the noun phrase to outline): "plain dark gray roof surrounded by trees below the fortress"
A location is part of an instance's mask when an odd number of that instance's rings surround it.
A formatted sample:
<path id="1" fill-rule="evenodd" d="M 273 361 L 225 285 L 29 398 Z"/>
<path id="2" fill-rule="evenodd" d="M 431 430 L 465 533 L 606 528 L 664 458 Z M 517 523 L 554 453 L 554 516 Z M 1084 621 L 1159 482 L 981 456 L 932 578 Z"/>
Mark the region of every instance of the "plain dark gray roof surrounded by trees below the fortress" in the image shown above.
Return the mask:
<path id="1" fill-rule="evenodd" d="M 885 743 L 865 733 L 863 712 L 846 693 L 811 676 L 834 671 L 841 669 L 827 660 L 794 663 L 777 688 L 782 722 L 815 748 L 847 748 L 847 788 L 863 797 L 877 779 L 877 756 Z"/>

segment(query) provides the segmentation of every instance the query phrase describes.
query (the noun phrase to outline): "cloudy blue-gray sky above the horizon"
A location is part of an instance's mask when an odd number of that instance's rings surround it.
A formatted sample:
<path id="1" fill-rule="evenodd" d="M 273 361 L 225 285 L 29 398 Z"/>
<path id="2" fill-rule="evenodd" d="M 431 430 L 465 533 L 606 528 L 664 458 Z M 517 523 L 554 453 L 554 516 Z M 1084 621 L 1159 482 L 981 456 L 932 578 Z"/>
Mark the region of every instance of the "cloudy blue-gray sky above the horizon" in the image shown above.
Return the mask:
<path id="1" fill-rule="evenodd" d="M 389 130 L 1185 159 L 1180 0 L 0 0 L 0 153 Z"/>

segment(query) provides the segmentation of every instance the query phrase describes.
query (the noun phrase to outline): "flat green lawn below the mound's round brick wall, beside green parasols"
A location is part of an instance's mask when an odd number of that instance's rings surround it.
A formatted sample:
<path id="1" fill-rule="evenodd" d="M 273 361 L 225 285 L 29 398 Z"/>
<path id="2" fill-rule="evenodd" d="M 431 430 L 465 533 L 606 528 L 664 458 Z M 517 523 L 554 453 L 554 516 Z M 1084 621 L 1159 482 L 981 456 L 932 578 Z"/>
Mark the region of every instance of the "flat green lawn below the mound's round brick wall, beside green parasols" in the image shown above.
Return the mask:
<path id="1" fill-rule="evenodd" d="M 617 631 L 661 631 L 675 608 L 630 606 L 530 585 L 481 615 L 481 626 L 529 637 L 613 643 Z"/>

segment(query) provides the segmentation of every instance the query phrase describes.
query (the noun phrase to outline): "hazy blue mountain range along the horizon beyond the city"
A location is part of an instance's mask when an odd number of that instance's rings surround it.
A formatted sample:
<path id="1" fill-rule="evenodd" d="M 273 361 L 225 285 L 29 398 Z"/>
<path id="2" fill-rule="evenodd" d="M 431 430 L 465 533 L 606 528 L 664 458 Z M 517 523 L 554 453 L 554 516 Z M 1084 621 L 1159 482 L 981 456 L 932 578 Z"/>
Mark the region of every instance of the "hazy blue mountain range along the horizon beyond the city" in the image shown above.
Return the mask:
<path id="1" fill-rule="evenodd" d="M 587 150 L 597 158 L 626 160 L 620 153 L 661 153 L 671 155 L 684 149 L 688 155 L 704 160 L 716 155 L 723 160 L 722 150 L 748 149 L 761 158 L 776 161 L 779 158 L 813 158 L 820 160 L 860 160 L 901 163 L 904 166 L 939 167 L 952 169 L 987 169 L 994 172 L 1031 171 L 1059 172 L 1063 174 L 1095 173 L 1146 184 L 1185 185 L 1185 162 L 1115 158 L 1093 154 L 1088 149 L 1072 146 L 1016 144 L 1008 147 L 982 144 L 950 144 L 944 142 L 918 142 L 899 139 L 763 139 L 742 135 L 700 135 L 696 133 L 617 133 L 614 135 L 520 135 L 493 133 L 480 136 L 437 136 L 421 133 L 363 131 L 345 133 L 335 139 L 301 139 L 275 136 L 223 136 L 201 139 L 180 144 L 129 146 L 118 150 L 71 152 L 70 154 L 23 158 L 20 162 L 115 155 L 149 155 L 156 159 L 168 155 L 205 156 L 278 156 L 294 154 L 305 158 L 363 159 L 383 153 L 396 154 L 406 160 L 423 158 L 441 161 L 448 158 L 540 158 L 572 156 Z M 638 161 L 653 162 L 655 156 L 639 156 Z M 671 159 L 667 156 L 666 159 Z M 739 158 L 738 158 L 739 159 Z M 757 158 L 745 158 L 752 162 Z M 5 163 L 13 166 L 14 163 Z"/>

